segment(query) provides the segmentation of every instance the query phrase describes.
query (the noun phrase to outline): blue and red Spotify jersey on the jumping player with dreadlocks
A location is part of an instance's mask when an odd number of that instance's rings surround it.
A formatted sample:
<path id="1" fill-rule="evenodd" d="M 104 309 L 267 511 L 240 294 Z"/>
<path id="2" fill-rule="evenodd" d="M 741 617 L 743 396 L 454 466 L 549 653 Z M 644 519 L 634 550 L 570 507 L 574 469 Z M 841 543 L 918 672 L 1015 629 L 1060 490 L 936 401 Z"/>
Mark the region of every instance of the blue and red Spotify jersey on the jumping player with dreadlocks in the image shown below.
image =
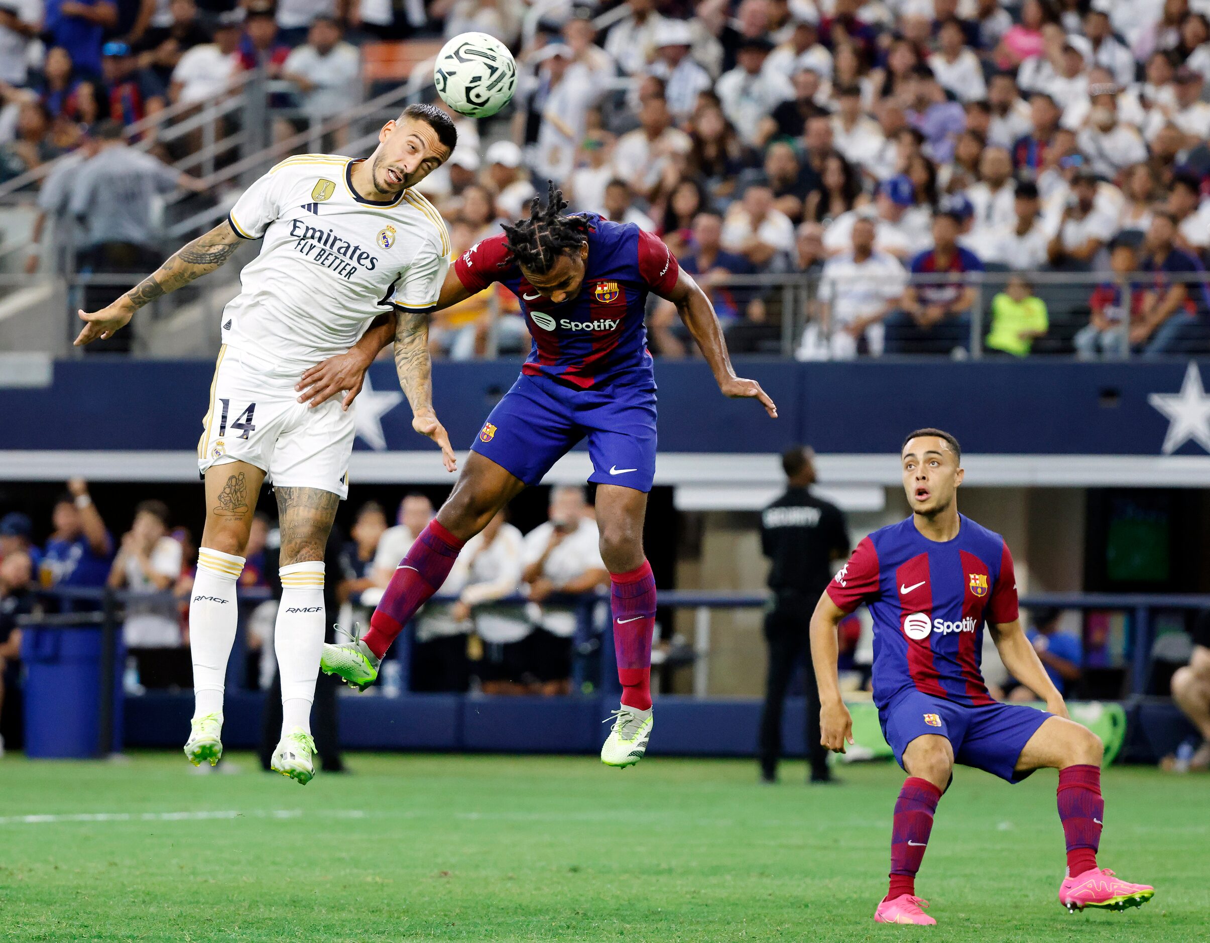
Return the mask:
<path id="1" fill-rule="evenodd" d="M 589 222 L 584 281 L 580 293 L 561 304 L 538 299 L 508 252 L 505 234 L 467 249 L 454 271 L 472 292 L 500 282 L 517 295 L 534 338 L 522 373 L 582 390 L 622 378 L 655 387 L 644 312 L 649 292 L 668 294 L 676 284 L 676 259 L 634 223 L 584 215 Z"/>

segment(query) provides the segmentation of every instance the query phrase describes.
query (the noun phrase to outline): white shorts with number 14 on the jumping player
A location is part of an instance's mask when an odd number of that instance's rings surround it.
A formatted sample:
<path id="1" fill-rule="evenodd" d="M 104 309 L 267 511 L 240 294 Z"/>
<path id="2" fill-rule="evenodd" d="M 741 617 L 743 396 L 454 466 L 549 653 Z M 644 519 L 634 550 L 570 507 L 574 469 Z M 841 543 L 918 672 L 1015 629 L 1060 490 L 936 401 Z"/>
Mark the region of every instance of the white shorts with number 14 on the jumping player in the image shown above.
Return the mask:
<path id="1" fill-rule="evenodd" d="M 202 419 L 197 467 L 246 461 L 282 488 L 318 488 L 348 496 L 353 452 L 353 409 L 340 397 L 312 409 L 298 401 L 300 370 L 283 370 L 224 345 Z"/>

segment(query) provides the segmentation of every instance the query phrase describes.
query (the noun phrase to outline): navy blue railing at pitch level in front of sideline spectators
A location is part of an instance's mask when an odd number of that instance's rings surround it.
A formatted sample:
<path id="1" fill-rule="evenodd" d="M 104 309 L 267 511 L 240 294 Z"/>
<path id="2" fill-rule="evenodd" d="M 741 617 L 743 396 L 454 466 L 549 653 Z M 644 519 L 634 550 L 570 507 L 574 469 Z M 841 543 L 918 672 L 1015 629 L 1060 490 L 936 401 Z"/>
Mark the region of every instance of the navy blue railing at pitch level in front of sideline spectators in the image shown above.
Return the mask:
<path id="1" fill-rule="evenodd" d="M 102 679 L 114 679 L 120 674 L 119 659 L 122 657 L 121 640 L 123 604 L 137 599 L 140 604 L 160 603 L 178 605 L 182 599 L 171 592 L 131 593 L 115 590 L 59 588 L 39 590 L 44 605 L 57 611 L 35 611 L 21 616 L 24 628 L 35 629 L 100 629 L 102 645 L 97 671 Z M 227 666 L 227 689 L 242 686 L 246 678 L 247 616 L 253 605 L 271 599 L 265 588 L 240 590 L 241 623 L 236 648 Z M 456 597 L 434 597 L 433 603 L 453 602 Z M 609 632 L 609 599 L 600 594 L 554 597 L 552 603 L 571 604 L 577 608 L 578 619 L 574 638 L 572 692 L 582 695 L 610 695 L 618 690 L 613 660 L 612 633 Z M 519 608 L 529 603 L 515 596 L 500 600 Z M 709 695 L 709 663 L 711 657 L 711 615 L 718 609 L 764 609 L 770 597 L 765 593 L 725 593 L 685 590 L 666 590 L 659 593 L 661 609 L 687 609 L 693 614 L 695 638 L 692 643 L 693 696 Z M 1187 613 L 1210 609 L 1210 596 L 1194 594 L 1130 594 L 1130 593 L 1035 593 L 1021 598 L 1025 609 L 1076 609 L 1089 611 L 1117 611 L 1128 616 L 1122 655 L 1127 659 L 1129 685 L 1123 695 L 1141 698 L 1147 691 L 1152 671 L 1152 652 L 1157 617 L 1163 613 Z M 402 691 L 408 690 L 413 632 L 401 636 L 394 657 L 399 663 Z M 380 685 L 381 686 L 381 685 Z M 119 685 L 100 684 L 99 743 L 113 742 L 115 706 L 113 697 Z M 375 690 L 375 689 L 370 689 Z M 102 751 L 108 752 L 108 751 Z"/>

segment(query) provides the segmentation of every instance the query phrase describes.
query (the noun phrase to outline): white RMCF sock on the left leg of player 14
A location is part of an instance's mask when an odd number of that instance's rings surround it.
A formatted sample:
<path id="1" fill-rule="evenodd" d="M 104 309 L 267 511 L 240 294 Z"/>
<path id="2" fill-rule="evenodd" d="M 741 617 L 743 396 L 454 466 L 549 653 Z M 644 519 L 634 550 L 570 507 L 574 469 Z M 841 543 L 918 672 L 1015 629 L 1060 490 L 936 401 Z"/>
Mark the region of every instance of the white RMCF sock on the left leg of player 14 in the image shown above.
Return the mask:
<path id="1" fill-rule="evenodd" d="M 218 550 L 197 551 L 197 576 L 189 598 L 189 652 L 194 660 L 194 717 L 223 711 L 226 662 L 235 644 L 240 611 L 235 585 L 243 557 Z"/>

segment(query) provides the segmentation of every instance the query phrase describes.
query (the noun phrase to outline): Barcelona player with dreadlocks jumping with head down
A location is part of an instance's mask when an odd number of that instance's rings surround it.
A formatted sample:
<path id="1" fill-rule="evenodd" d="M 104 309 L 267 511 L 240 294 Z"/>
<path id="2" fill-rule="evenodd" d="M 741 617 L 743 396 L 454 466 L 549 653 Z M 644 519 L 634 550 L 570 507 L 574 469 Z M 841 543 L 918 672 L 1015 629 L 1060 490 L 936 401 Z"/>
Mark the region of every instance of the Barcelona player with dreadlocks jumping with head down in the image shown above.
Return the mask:
<path id="1" fill-rule="evenodd" d="M 643 522 L 656 471 L 656 381 L 644 310 L 649 293 L 676 309 L 714 372 L 724 396 L 777 407 L 755 380 L 736 376 L 719 320 L 705 293 L 676 264 L 668 247 L 633 223 L 582 213 L 563 215 L 563 195 L 551 184 L 546 205 L 506 225 L 459 257 L 436 307 L 469 298 L 492 282 L 519 299 L 534 338 L 522 375 L 483 425 L 449 500 L 396 570 L 357 642 L 327 645 L 323 669 L 364 688 L 378 677 L 387 648 L 416 610 L 440 588 L 463 544 L 526 485 L 587 439 L 597 488 L 600 552 L 612 583 L 613 643 L 622 702 L 601 748 L 611 766 L 638 763 L 651 736 L 651 640 L 656 583 L 643 551 Z M 410 403 L 427 403 L 430 311 L 399 310 L 394 357 Z M 304 375 L 305 397 L 359 387 L 364 370 L 388 339 L 368 334 L 359 350 Z M 358 360 L 359 358 L 359 360 Z M 414 398 L 414 392 L 422 390 Z M 413 426 L 454 455 L 431 408 Z"/>

